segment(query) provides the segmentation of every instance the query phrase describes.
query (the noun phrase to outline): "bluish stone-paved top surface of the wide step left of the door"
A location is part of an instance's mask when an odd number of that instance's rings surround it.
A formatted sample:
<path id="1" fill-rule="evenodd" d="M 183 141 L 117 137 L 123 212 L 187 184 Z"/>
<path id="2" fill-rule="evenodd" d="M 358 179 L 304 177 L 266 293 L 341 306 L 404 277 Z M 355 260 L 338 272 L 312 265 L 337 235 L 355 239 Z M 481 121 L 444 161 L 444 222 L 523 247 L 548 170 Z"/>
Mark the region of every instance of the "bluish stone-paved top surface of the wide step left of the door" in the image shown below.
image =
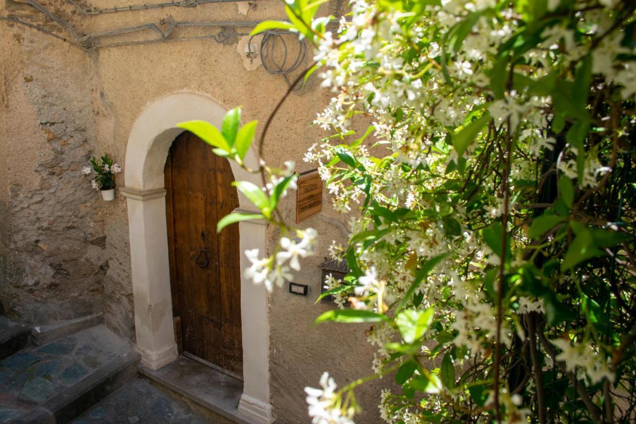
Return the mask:
<path id="1" fill-rule="evenodd" d="M 0 400 L 5 400 L 0 402 L 0 423 L 15 420 L 27 405 L 31 409 L 46 409 L 49 404 L 64 407 L 60 394 L 68 393 L 71 402 L 71 397 L 81 395 L 76 393 L 81 381 L 91 381 L 88 390 L 105 369 L 112 369 L 123 359 L 130 362 L 132 355 L 136 355 L 132 346 L 106 326 L 97 325 L 0 360 Z"/>

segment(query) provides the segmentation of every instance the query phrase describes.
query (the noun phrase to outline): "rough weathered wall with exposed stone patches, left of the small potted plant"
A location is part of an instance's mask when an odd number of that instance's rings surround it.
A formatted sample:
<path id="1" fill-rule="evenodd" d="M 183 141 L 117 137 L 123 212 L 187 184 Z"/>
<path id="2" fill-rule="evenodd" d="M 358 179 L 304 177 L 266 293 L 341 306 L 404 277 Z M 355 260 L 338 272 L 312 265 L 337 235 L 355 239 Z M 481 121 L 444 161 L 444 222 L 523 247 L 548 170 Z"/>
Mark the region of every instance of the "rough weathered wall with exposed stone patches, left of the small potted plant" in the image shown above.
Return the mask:
<path id="1" fill-rule="evenodd" d="M 76 48 L 5 22 L 0 48 L 4 309 L 38 324 L 99 312 L 106 237 L 95 192 L 80 176 L 96 146 L 93 62 Z"/>

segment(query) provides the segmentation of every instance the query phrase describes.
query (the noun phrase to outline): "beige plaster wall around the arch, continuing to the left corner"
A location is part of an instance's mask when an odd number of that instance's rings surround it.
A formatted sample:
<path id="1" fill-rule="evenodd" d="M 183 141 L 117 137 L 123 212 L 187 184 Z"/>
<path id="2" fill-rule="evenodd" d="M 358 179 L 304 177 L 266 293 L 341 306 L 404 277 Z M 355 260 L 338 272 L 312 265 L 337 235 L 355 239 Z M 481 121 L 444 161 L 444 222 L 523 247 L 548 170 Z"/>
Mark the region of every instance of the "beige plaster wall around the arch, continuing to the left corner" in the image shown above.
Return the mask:
<path id="1" fill-rule="evenodd" d="M 254 10 L 247 9 L 247 15 L 243 14 L 244 4 L 239 8 L 235 3 L 228 3 L 205 4 L 195 9 L 165 8 L 97 17 L 80 17 L 64 2 L 50 3 L 58 4 L 56 10 L 60 15 L 72 20 L 83 32 L 148 22 L 160 25 L 162 19 L 259 20 L 284 17 L 282 1 L 279 0 L 258 0 L 254 2 Z M 99 2 L 100 7 L 120 4 L 113 0 Z M 123 1 L 123 4 L 139 2 Z M 328 7 L 334 12 L 340 3 L 329 4 Z M 53 28 L 63 33 L 59 27 Z M 177 31 L 181 30 L 175 30 L 173 36 L 177 36 Z M 232 31 L 237 30 L 224 29 L 226 34 Z M 249 29 L 238 31 L 249 32 Z M 178 36 L 200 36 L 205 32 L 210 31 L 183 29 Z M 3 66 L 6 92 L 3 94 L 0 160 L 5 162 L 0 164 L 0 204 L 3 208 L 0 209 L 0 213 L 3 213 L 3 225 L 0 228 L 4 231 L 2 246 L 6 253 L 3 253 L 3 258 L 11 258 L 10 261 L 16 261 L 17 265 L 6 259 L 3 259 L 3 264 L 4 269 L 20 270 L 17 272 L 19 277 L 4 277 L 0 289 L 16 292 L 17 289 L 13 288 L 15 283 L 12 282 L 14 279 L 26 281 L 29 276 L 43 274 L 43 271 L 36 272 L 34 268 L 50 267 L 46 260 L 52 262 L 50 258 L 62 254 L 59 249 L 66 242 L 56 240 L 51 243 L 56 249 L 54 253 L 42 253 L 42 249 L 34 244 L 34 239 L 45 240 L 43 234 L 50 231 L 46 222 L 41 223 L 43 218 L 40 215 L 72 216 L 65 225 L 76 228 L 68 230 L 69 234 L 77 232 L 88 236 L 83 237 L 83 251 L 69 250 L 67 253 L 83 257 L 84 262 L 97 267 L 100 272 L 83 276 L 81 282 L 75 273 L 66 278 L 73 276 L 77 290 L 96 293 L 94 299 L 87 300 L 89 309 L 103 307 L 107 324 L 120 334 L 133 338 L 125 199 L 118 193 L 113 202 L 98 200 L 98 194 L 90 190 L 88 183 L 81 180 L 76 171 L 91 153 L 110 153 L 125 167 L 126 144 L 135 119 L 149 102 L 164 95 L 174 92 L 206 94 L 226 108 L 242 105 L 245 121 L 257 119 L 264 123 L 275 103 L 286 92 L 287 83 L 282 76 L 267 73 L 262 66 L 256 67 L 245 60 L 240 53 L 240 45 L 237 50 L 237 43 L 245 42 L 244 36 L 231 36 L 223 43 L 215 43 L 212 39 L 149 43 L 102 47 L 89 53 L 29 28 L 9 27 L 6 22 L 0 22 L 0 36 L 13 58 L 10 66 Z M 153 38 L 156 38 L 156 34 L 143 32 L 109 38 L 104 42 L 122 43 Z M 291 41 L 289 47 L 293 53 L 298 44 Z M 303 62 L 301 69 L 304 66 Z M 32 75 L 34 80 L 26 83 L 26 74 Z M 29 87 L 38 87 L 38 90 Z M 289 96 L 266 139 L 265 157 L 270 163 L 282 165 L 284 160 L 295 160 L 298 171 L 309 169 L 310 165 L 302 161 L 305 150 L 326 135 L 309 124 L 330 96 L 328 90 L 317 87 L 315 80 L 310 80 L 307 87 Z M 66 127 L 73 128 L 72 134 L 60 134 L 72 140 L 63 149 L 59 142 L 46 139 L 46 129 L 49 127 L 41 123 L 59 120 L 48 117 L 51 113 L 64 115 Z M 62 149 L 60 152 L 63 153 L 56 153 L 56 149 Z M 45 160 L 60 160 L 56 154 L 64 157 L 56 178 L 66 180 L 64 185 L 56 186 L 52 197 L 55 200 L 38 203 L 37 207 L 41 211 L 38 215 L 30 211 L 29 199 L 52 184 L 49 180 L 53 176 L 44 177 L 39 169 Z M 8 163 L 19 166 L 8 168 L 5 166 Z M 123 187 L 123 176 L 118 177 L 116 183 L 118 187 Z M 68 205 L 59 208 L 56 202 L 62 201 L 62 196 Z M 334 213 L 326 196 L 325 200 L 323 213 L 303 223 L 321 234 L 315 257 L 305 260 L 303 271 L 294 278 L 294 281 L 309 285 L 308 296 L 293 295 L 286 288 L 275 290 L 270 295 L 270 392 L 274 413 L 280 423 L 309 421 L 303 388 L 307 385 L 317 386 L 322 371 L 330 371 L 339 385 L 371 372 L 373 348 L 366 343 L 364 325 L 312 325 L 319 314 L 331 307 L 314 305 L 320 293 L 320 270 L 317 265 L 328 256 L 327 249 L 332 239 L 341 242 L 346 239 L 347 227 L 342 222 L 349 219 Z M 291 221 L 295 218 L 294 201 L 295 196 L 292 194 L 281 205 L 284 215 Z M 55 219 L 53 222 L 56 222 Z M 59 230 L 61 236 L 66 234 L 64 227 Z M 92 237 L 100 237 L 103 243 L 100 242 L 99 246 L 91 244 Z M 275 231 L 270 229 L 270 248 L 276 237 Z M 13 255 L 12 250 L 20 254 Z M 37 255 L 32 255 L 34 252 Z M 99 267 L 102 263 L 99 260 L 104 263 L 102 267 Z M 30 267 L 22 265 L 24 261 Z M 5 271 L 3 275 L 11 272 L 14 271 Z M 31 304 L 34 297 L 33 293 L 27 295 L 26 292 L 22 290 L 15 294 L 23 307 Z M 50 291 L 53 303 L 61 302 L 65 293 Z M 15 303 L 7 302 L 6 306 L 15 310 L 15 313 L 23 313 L 15 307 Z M 357 394 L 366 410 L 359 422 L 378 421 L 378 391 L 361 388 Z"/>

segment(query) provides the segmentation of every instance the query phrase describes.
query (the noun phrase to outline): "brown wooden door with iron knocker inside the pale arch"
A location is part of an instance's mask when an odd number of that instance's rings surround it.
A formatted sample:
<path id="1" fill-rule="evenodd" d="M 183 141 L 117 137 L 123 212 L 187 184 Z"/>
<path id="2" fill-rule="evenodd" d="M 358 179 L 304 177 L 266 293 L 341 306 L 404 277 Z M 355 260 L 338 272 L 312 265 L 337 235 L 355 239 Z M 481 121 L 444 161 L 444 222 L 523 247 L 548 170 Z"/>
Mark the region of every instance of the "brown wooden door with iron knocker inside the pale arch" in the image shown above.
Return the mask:
<path id="1" fill-rule="evenodd" d="M 242 378 L 239 225 L 216 223 L 239 206 L 228 160 L 183 132 L 165 164 L 170 286 L 183 350 Z"/>

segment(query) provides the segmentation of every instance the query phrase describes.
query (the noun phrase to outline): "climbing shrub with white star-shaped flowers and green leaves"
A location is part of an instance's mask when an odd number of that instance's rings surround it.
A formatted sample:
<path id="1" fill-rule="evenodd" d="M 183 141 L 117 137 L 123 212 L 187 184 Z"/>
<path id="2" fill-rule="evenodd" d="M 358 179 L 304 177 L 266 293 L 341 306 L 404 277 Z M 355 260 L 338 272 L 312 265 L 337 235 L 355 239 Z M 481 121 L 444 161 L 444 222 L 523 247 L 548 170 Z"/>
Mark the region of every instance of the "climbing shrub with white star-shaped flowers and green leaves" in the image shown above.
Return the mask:
<path id="1" fill-rule="evenodd" d="M 391 423 L 635 420 L 635 4 L 353 0 L 333 25 L 322 3 L 254 30 L 299 32 L 333 92 L 305 160 L 354 216 L 323 295 L 354 296 L 316 322 L 369 323 L 377 347 L 370 376 L 307 388 L 313 422 L 350 423 L 356 386 L 389 375 Z M 237 127 L 212 144 L 242 163 Z M 265 193 L 237 187 L 284 238 L 247 272 L 270 287 L 315 232 L 277 213 L 291 170 L 254 171 Z"/>

